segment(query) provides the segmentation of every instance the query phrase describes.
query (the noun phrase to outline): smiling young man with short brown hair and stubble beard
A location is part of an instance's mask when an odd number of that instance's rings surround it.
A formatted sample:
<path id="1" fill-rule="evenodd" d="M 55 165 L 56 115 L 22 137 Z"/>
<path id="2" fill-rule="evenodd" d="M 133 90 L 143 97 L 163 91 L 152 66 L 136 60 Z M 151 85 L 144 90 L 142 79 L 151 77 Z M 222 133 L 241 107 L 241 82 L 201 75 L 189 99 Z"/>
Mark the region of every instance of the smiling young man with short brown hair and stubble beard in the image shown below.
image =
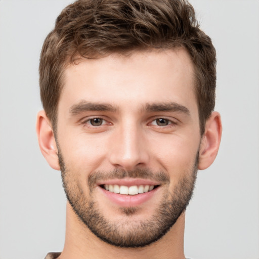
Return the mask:
<path id="1" fill-rule="evenodd" d="M 39 74 L 38 142 L 68 200 L 64 249 L 46 258 L 185 258 L 185 209 L 222 132 L 215 50 L 192 6 L 79 0 Z"/>

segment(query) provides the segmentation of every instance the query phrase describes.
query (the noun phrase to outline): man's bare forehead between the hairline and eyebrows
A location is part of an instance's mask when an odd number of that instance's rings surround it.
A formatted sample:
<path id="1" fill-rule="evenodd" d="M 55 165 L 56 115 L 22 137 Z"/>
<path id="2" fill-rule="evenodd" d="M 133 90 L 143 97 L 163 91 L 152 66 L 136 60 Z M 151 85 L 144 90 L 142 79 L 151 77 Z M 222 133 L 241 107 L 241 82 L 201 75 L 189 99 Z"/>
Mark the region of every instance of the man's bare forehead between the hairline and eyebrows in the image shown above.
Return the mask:
<path id="1" fill-rule="evenodd" d="M 81 59 L 64 71 L 58 110 L 81 101 L 109 103 L 118 108 L 176 102 L 195 109 L 193 77 L 193 63 L 182 48 Z"/>

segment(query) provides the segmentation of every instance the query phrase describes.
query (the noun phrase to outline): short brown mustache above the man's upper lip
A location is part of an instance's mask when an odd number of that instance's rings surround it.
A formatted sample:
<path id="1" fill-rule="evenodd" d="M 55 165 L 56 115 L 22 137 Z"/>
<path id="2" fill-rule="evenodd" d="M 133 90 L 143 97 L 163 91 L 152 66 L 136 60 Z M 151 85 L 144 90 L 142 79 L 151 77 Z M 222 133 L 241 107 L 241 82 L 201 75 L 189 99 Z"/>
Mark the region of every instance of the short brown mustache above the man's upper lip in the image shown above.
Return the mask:
<path id="1" fill-rule="evenodd" d="M 169 184 L 169 175 L 164 171 L 160 170 L 157 172 L 152 171 L 149 168 L 135 169 L 135 170 L 124 170 L 114 169 L 111 171 L 94 171 L 88 176 L 89 189 L 93 190 L 98 181 L 106 181 L 111 179 L 123 179 L 123 178 L 141 178 L 149 179 L 151 181 L 159 182 L 160 184 Z"/>

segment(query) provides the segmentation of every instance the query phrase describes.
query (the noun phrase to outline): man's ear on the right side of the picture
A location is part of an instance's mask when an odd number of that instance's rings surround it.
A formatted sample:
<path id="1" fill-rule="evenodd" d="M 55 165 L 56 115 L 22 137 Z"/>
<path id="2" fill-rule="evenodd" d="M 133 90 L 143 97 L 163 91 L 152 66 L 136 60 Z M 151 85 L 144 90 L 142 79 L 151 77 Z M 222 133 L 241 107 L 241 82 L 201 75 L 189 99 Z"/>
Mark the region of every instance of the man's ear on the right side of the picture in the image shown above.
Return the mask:
<path id="1" fill-rule="evenodd" d="M 221 142 L 222 123 L 218 112 L 212 112 L 206 121 L 199 152 L 199 170 L 206 169 L 215 160 Z"/>

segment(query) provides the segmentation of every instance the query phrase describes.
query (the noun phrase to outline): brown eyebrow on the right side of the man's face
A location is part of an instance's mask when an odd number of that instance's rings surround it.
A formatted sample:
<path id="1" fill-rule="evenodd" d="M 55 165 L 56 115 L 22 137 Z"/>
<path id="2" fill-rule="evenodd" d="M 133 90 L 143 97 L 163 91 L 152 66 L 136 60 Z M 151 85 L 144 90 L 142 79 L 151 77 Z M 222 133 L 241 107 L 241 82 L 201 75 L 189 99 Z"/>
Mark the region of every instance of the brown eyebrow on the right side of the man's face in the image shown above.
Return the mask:
<path id="1" fill-rule="evenodd" d="M 181 113 L 190 115 L 190 111 L 187 107 L 175 102 L 146 104 L 143 110 L 147 112 L 160 112 L 160 111 L 181 112 Z"/>

